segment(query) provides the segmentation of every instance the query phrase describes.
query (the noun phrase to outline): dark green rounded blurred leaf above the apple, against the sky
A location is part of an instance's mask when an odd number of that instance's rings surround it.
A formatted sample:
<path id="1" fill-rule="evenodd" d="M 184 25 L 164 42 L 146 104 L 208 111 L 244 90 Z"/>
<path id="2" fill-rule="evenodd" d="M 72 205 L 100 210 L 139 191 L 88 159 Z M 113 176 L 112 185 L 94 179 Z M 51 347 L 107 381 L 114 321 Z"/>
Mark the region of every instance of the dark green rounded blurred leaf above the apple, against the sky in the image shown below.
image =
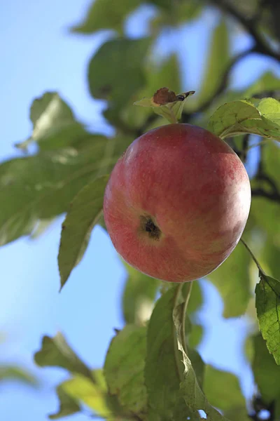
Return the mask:
<path id="1" fill-rule="evenodd" d="M 94 98 L 122 107 L 144 86 L 143 62 L 151 39 L 112 39 L 90 60 L 88 82 Z"/>

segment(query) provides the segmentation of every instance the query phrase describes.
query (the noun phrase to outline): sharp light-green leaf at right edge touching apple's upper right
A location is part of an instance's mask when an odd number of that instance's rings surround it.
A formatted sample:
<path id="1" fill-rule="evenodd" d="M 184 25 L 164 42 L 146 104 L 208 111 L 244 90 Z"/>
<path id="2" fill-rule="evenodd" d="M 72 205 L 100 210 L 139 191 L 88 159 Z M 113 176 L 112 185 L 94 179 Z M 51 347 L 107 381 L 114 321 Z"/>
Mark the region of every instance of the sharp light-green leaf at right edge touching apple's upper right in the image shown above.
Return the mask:
<path id="1" fill-rule="evenodd" d="M 208 128 L 221 138 L 253 133 L 280 140 L 279 114 L 280 102 L 273 98 L 232 101 L 218 107 Z"/>

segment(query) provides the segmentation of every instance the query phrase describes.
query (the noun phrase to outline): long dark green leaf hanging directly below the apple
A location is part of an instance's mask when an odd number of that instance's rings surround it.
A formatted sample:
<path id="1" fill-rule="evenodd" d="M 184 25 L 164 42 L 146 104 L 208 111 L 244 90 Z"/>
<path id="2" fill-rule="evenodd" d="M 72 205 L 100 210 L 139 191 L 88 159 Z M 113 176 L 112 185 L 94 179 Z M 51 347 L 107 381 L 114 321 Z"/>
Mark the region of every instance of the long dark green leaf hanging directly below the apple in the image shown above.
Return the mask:
<path id="1" fill-rule="evenodd" d="M 183 297 L 177 300 L 177 288 L 172 287 L 162 295 L 148 324 L 145 384 L 149 420 L 183 421 L 190 415 L 195 416 L 183 403 L 180 394 L 183 364 L 176 344 L 173 309 Z M 178 408 L 181 408 L 179 414 Z"/>

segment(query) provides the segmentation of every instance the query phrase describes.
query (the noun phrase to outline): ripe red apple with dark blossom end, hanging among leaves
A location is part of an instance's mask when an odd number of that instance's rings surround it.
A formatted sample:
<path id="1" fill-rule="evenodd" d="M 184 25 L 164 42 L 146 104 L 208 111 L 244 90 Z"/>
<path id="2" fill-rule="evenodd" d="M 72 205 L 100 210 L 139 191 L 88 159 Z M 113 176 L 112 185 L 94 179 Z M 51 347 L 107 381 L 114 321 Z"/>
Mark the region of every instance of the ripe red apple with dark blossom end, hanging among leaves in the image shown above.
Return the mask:
<path id="1" fill-rule="evenodd" d="M 140 272 L 186 282 L 213 272 L 237 245 L 251 206 L 239 157 L 190 124 L 134 140 L 113 168 L 104 220 L 113 246 Z"/>

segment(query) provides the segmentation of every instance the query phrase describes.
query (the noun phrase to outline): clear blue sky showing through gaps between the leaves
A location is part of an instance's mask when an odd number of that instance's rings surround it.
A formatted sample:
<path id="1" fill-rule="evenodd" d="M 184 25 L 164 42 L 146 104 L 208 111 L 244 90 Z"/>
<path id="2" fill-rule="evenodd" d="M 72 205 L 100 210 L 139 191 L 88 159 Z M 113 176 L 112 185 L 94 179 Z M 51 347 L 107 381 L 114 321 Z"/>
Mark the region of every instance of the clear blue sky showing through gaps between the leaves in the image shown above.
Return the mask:
<path id="1" fill-rule="evenodd" d="M 102 105 L 90 98 L 86 84 L 87 62 L 104 35 L 83 37 L 67 32 L 67 27 L 83 16 L 87 4 L 87 0 L 1 2 L 1 159 L 18 153 L 13 144 L 27 138 L 31 130 L 29 105 L 34 97 L 48 90 L 59 91 L 76 115 L 96 131 L 110 133 L 99 114 Z M 153 10 L 141 13 L 148 16 Z M 127 32 L 133 36 L 145 31 L 145 25 L 139 27 L 137 22 L 132 18 L 127 25 Z M 181 29 L 188 39 L 188 43 L 177 47 L 181 57 L 186 58 L 183 78 L 186 89 L 198 87 L 209 27 L 214 22 L 215 15 L 207 14 L 203 25 L 194 22 Z M 162 36 L 158 48 L 165 46 L 170 51 L 173 46 L 172 42 L 165 44 L 167 34 Z M 172 39 L 177 35 L 174 33 Z M 246 37 L 236 36 L 235 50 L 248 44 Z M 245 86 L 268 68 L 273 68 L 270 60 L 255 56 L 237 66 L 232 83 Z M 252 163 L 253 160 L 252 156 Z M 1 346 L 0 362 L 23 363 L 42 380 L 38 391 L 15 383 L 1 385 L 0 420 L 44 421 L 48 419 L 47 413 L 56 410 L 54 387 L 66 376 L 61 370 L 38 369 L 33 365 L 32 354 L 40 347 L 43 335 L 55 335 L 62 330 L 85 362 L 99 367 L 104 362 L 113 328 L 123 324 L 120 297 L 125 272 L 109 237 L 99 227 L 94 229 L 83 262 L 63 292 L 58 293 L 59 222 L 36 241 L 20 239 L 0 250 L 0 331 L 7 335 L 6 345 Z M 208 328 L 200 349 L 202 356 L 205 361 L 240 375 L 242 387 L 249 395 L 251 376 L 240 357 L 246 321 L 221 319 L 223 305 L 215 288 L 207 281 L 202 284 L 207 299 L 200 316 Z M 71 417 L 72 421 L 86 419 L 84 415 Z"/>

